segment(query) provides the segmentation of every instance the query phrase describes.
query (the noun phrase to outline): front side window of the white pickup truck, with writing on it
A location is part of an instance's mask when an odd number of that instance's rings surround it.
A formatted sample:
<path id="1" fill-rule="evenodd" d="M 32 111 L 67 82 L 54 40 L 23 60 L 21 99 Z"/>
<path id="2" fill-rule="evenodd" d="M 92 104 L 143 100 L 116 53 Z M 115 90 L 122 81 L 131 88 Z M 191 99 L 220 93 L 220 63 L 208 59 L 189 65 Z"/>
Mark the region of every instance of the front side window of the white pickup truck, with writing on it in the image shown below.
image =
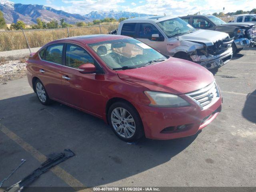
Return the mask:
<path id="1" fill-rule="evenodd" d="M 159 34 L 159 36 L 163 36 L 160 31 L 150 23 L 141 23 L 140 24 L 140 34 L 139 38 L 151 38 L 152 34 Z"/>

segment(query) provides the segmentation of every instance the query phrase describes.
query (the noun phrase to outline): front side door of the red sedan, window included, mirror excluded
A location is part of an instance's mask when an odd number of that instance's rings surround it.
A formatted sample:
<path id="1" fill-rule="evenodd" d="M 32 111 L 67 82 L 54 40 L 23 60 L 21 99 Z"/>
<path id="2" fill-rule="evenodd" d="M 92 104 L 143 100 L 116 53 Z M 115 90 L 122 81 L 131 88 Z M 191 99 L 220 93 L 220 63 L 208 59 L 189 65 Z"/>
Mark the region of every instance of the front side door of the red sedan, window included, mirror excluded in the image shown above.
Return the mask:
<path id="1" fill-rule="evenodd" d="M 81 46 L 67 43 L 65 45 L 65 66 L 62 69 L 64 94 L 62 101 L 93 114 L 102 108 L 101 82 L 104 74 L 82 74 L 78 67 L 91 63 L 100 68 L 96 60 Z M 99 71 L 102 71 L 99 69 Z"/>

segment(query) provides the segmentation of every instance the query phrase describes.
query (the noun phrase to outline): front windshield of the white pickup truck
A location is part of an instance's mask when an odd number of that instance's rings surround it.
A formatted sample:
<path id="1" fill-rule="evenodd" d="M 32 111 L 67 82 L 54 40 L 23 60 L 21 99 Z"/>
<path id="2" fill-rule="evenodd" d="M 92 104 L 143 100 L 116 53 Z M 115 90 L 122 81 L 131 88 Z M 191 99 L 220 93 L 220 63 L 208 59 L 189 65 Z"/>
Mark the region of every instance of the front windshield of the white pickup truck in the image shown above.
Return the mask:
<path id="1" fill-rule="evenodd" d="M 157 23 L 158 26 L 164 31 L 168 38 L 175 36 L 177 34 L 185 34 L 194 32 L 196 29 L 193 28 L 190 24 L 186 23 L 180 18 L 173 18 Z"/>

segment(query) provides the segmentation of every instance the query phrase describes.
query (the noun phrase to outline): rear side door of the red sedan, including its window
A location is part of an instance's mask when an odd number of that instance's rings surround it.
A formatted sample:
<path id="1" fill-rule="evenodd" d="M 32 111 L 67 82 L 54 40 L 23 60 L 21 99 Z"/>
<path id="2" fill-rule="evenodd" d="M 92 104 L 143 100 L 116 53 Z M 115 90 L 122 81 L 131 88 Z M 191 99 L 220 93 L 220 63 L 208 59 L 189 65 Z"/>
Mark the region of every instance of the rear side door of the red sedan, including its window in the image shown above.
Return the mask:
<path id="1" fill-rule="evenodd" d="M 62 55 L 64 44 L 51 44 L 39 52 L 37 77 L 42 81 L 50 98 L 60 99 L 62 94 Z"/>

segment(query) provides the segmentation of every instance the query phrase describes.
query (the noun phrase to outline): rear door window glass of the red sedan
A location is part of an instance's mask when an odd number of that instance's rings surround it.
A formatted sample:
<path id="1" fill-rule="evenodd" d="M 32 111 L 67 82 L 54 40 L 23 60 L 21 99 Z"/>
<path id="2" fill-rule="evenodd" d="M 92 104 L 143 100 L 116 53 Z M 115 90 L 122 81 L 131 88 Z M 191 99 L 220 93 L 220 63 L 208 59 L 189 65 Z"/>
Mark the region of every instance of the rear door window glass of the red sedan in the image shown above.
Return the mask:
<path id="1" fill-rule="evenodd" d="M 62 64 L 62 49 L 63 44 L 48 46 L 46 49 L 45 60 Z"/>

